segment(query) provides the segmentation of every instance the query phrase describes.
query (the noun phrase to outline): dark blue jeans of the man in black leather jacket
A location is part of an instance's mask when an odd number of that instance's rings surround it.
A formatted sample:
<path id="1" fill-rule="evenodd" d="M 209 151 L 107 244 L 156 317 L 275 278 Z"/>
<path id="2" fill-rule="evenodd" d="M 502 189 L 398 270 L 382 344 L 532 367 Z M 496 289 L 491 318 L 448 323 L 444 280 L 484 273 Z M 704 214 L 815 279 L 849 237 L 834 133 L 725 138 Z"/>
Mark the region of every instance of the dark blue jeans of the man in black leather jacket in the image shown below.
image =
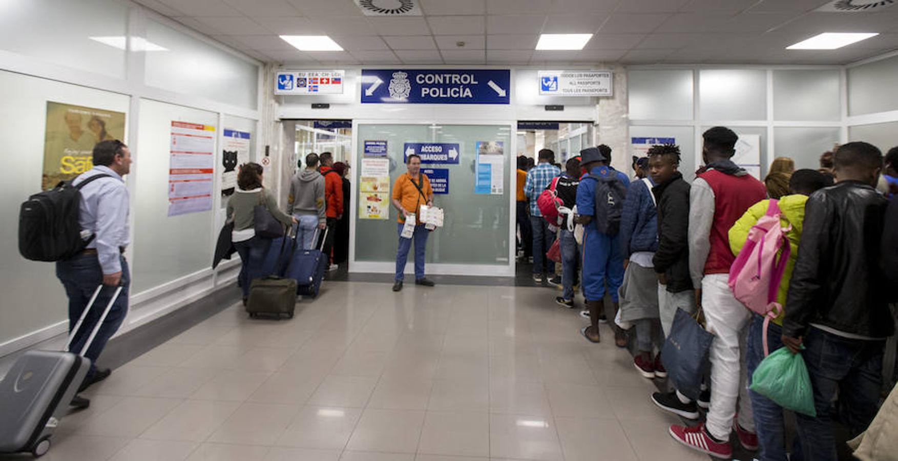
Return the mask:
<path id="1" fill-rule="evenodd" d="M 801 454 L 805 460 L 835 460 L 832 400 L 838 392 L 841 421 L 849 428 L 849 439 L 867 430 L 879 402 L 885 341 L 850 340 L 812 326 L 805 347 L 802 355 L 814 386 L 817 417 L 796 413 Z"/>

